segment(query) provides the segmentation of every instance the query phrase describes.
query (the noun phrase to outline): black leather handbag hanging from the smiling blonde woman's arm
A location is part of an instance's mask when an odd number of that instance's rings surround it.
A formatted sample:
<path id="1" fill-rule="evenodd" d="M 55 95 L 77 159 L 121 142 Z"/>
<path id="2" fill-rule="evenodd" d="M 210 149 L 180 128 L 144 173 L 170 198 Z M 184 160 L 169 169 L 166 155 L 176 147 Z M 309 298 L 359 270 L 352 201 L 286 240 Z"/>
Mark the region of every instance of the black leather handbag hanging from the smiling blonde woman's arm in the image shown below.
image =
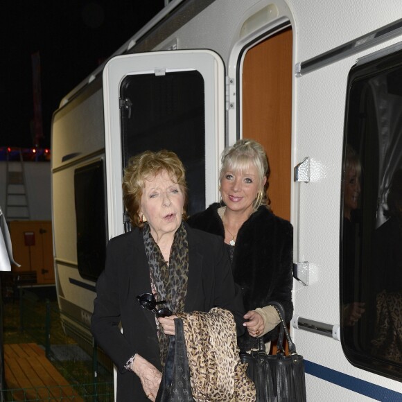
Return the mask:
<path id="1" fill-rule="evenodd" d="M 288 328 L 283 320 L 283 307 L 280 303 L 270 302 L 277 310 L 281 322 L 277 340 L 277 354 L 265 352 L 263 338 L 258 338 L 258 347 L 251 353 L 241 352 L 241 362 L 248 363 L 247 375 L 256 386 L 256 402 L 306 402 L 306 381 L 303 356 L 296 353 L 295 344 L 290 338 Z M 283 348 L 286 336 L 289 354 Z"/>

